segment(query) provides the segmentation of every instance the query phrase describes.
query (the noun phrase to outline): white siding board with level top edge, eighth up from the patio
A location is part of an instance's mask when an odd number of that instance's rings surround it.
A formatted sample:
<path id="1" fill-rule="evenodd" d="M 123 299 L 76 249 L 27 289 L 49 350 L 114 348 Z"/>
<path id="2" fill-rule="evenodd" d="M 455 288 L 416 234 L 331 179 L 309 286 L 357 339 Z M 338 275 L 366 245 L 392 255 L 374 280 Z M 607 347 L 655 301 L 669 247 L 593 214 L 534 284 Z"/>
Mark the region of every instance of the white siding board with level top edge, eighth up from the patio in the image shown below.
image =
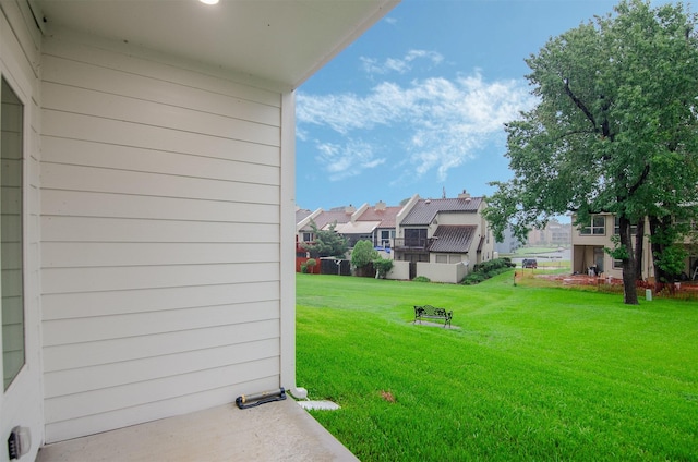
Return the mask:
<path id="1" fill-rule="evenodd" d="M 278 262 L 278 244 L 44 243 L 44 268 Z"/>

